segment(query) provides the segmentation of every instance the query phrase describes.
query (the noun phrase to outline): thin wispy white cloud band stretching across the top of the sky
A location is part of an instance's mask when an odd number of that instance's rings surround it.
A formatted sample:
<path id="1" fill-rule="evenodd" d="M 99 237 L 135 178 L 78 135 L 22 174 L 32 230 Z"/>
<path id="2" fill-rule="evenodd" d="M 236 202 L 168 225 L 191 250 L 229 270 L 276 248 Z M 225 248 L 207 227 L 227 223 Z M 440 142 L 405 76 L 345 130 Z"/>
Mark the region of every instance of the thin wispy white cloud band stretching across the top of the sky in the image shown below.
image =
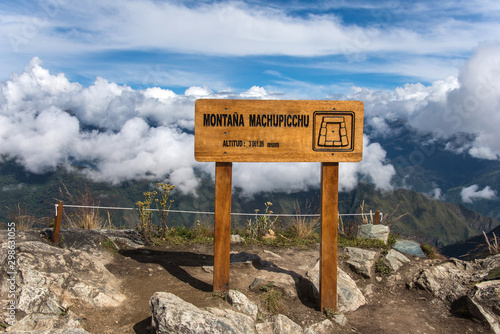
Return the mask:
<path id="1" fill-rule="evenodd" d="M 432 15 L 436 9 L 422 4 L 404 10 L 397 2 L 361 6 L 358 8 L 364 7 L 371 15 L 363 24 L 355 25 L 344 23 L 328 9 L 312 14 L 310 8 L 303 7 L 307 15 L 295 15 L 287 6 L 279 8 L 264 2 L 187 6 L 179 1 L 54 1 L 51 11 L 36 3 L 23 15 L 5 11 L 0 35 L 9 37 L 4 45 L 28 52 L 44 50 L 45 45 L 55 51 L 69 46 L 76 53 L 160 49 L 237 56 L 369 52 L 435 55 L 470 49 L 485 36 L 498 37 L 500 24 L 491 4 L 480 6 L 474 1 L 470 6 L 485 18 L 483 22 L 464 19 L 461 13 L 468 10 L 463 5 L 447 2 L 443 7 L 448 15 L 439 17 Z M 398 24 L 399 18 L 406 24 Z"/>

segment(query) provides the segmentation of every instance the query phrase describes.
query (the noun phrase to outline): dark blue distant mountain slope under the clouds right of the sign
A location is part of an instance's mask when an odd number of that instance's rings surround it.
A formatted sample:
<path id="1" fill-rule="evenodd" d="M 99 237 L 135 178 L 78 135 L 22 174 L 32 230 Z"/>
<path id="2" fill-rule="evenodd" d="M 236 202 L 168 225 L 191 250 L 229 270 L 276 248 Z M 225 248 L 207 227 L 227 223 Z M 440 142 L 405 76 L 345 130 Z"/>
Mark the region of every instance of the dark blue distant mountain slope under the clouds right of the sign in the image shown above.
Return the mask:
<path id="1" fill-rule="evenodd" d="M 397 174 L 393 178 L 396 188 L 412 189 L 431 194 L 439 189 L 439 199 L 456 203 L 486 216 L 500 219 L 500 161 L 471 157 L 467 150 L 453 152 L 452 139 L 436 139 L 412 131 L 404 123 L 391 124 L 397 135 L 374 136 L 387 152 L 387 162 Z M 471 141 L 473 138 L 455 139 Z M 497 193 L 492 199 L 476 199 L 464 203 L 461 191 L 477 185 L 479 189 L 489 186 Z"/>

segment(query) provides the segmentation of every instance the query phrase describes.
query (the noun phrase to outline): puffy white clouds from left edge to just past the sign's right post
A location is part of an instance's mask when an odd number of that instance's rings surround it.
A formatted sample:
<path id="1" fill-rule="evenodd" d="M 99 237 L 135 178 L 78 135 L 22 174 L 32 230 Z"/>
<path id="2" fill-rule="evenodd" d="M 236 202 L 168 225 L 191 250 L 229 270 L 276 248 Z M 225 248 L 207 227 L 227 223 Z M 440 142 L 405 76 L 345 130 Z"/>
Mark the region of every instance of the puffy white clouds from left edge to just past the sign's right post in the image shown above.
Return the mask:
<path id="1" fill-rule="evenodd" d="M 27 171 L 85 166 L 87 176 L 111 183 L 168 179 L 195 193 L 195 170 L 213 176 L 214 166 L 194 160 L 194 101 L 211 98 L 272 98 L 262 87 L 212 92 L 190 87 L 175 94 L 158 87 L 136 90 L 97 78 L 84 87 L 64 74 L 53 75 L 34 58 L 23 73 L 0 83 L 0 155 Z M 360 179 L 391 189 L 394 168 L 385 151 L 364 138 L 361 163 L 341 164 L 340 188 Z M 319 186 L 319 164 L 235 164 L 233 184 L 246 195 L 299 191 Z"/>

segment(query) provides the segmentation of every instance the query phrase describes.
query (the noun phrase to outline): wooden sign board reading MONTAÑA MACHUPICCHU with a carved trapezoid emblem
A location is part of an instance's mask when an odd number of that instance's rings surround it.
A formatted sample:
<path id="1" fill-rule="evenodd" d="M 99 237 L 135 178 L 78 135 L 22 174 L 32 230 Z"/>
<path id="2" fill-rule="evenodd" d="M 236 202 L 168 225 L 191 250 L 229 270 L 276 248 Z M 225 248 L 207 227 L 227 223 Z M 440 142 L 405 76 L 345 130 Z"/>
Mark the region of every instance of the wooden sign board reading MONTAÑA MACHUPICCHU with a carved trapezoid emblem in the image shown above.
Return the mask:
<path id="1" fill-rule="evenodd" d="M 213 162 L 356 162 L 361 101 L 200 99 L 195 159 Z"/>

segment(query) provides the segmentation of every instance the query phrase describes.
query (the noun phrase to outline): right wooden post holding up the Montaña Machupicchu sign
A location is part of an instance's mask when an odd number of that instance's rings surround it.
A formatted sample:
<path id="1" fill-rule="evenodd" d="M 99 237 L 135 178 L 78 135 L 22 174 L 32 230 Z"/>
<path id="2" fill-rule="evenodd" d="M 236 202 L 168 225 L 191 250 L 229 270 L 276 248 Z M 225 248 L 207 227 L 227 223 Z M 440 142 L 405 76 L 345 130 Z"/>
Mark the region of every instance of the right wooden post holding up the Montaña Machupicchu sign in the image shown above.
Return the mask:
<path id="1" fill-rule="evenodd" d="M 339 164 L 321 164 L 320 306 L 337 312 Z"/>

